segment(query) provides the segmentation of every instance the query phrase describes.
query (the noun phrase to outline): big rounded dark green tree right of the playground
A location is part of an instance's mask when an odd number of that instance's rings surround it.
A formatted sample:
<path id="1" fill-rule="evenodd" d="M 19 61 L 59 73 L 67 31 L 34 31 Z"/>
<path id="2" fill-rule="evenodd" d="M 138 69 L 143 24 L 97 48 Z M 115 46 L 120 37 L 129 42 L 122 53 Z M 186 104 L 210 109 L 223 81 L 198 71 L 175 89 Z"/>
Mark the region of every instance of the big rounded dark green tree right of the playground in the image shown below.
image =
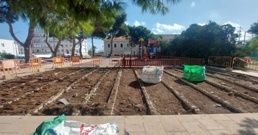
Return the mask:
<path id="1" fill-rule="evenodd" d="M 230 24 L 219 25 L 209 21 L 200 26 L 192 24 L 167 45 L 163 44 L 162 54 L 190 58 L 208 58 L 209 56 L 233 56 L 235 27 Z"/>

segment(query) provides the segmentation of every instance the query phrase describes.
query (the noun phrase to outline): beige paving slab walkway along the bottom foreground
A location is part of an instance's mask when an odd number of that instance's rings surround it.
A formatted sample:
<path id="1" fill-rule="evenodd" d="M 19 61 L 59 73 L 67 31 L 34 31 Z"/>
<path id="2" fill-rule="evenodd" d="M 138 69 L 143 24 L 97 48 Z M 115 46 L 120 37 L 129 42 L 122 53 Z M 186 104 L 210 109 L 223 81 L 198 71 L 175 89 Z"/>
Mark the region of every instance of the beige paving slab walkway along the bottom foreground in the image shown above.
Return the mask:
<path id="1" fill-rule="evenodd" d="M 28 135 L 56 116 L 0 116 L 0 135 Z M 155 116 L 67 116 L 86 124 L 115 122 L 119 135 L 258 135 L 258 113 Z"/>

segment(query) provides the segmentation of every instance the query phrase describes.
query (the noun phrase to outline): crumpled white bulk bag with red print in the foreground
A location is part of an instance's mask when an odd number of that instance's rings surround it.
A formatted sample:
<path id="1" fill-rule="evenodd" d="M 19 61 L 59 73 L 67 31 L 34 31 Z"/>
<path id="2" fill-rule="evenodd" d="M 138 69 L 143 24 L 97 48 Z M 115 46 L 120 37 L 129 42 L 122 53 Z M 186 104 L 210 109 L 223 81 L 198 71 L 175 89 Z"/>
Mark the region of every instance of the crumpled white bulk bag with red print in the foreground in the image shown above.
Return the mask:
<path id="1" fill-rule="evenodd" d="M 63 121 L 50 132 L 52 135 L 117 135 L 119 130 L 113 122 L 87 125 L 77 121 Z"/>

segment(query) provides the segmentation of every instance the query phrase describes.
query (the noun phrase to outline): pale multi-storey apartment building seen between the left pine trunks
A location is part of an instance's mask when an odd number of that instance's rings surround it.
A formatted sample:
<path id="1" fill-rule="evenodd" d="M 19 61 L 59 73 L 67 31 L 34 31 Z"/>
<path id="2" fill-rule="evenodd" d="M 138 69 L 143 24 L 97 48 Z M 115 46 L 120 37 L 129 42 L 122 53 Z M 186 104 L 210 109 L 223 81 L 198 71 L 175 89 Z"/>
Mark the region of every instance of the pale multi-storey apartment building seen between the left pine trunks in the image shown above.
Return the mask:
<path id="1" fill-rule="evenodd" d="M 32 54 L 36 55 L 37 57 L 51 57 L 53 54 L 50 51 L 50 48 L 46 44 L 46 33 L 42 29 L 35 29 L 34 32 L 34 45 L 32 48 Z M 49 44 L 51 45 L 52 49 L 54 50 L 58 39 L 55 37 L 49 37 L 48 39 Z M 87 49 L 87 40 L 81 42 L 82 48 L 81 53 L 83 56 L 88 55 Z M 19 54 L 24 54 L 24 48 L 21 46 L 19 47 Z M 75 47 L 75 56 L 79 56 L 79 44 Z M 63 40 L 61 46 L 58 49 L 58 56 L 70 56 L 72 49 L 72 42 L 68 40 Z"/>

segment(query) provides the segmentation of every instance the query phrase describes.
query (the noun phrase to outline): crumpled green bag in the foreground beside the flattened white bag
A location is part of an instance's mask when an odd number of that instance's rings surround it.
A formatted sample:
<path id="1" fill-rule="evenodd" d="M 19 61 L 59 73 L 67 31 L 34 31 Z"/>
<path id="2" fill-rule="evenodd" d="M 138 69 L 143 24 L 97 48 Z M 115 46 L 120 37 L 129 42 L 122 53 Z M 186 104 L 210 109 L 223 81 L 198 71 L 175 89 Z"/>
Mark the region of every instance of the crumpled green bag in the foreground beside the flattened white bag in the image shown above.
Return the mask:
<path id="1" fill-rule="evenodd" d="M 31 133 L 30 135 L 50 135 L 49 129 L 58 126 L 65 120 L 66 118 L 64 114 L 54 119 L 46 120 L 39 125 L 39 127 L 36 129 L 34 133 Z"/>

